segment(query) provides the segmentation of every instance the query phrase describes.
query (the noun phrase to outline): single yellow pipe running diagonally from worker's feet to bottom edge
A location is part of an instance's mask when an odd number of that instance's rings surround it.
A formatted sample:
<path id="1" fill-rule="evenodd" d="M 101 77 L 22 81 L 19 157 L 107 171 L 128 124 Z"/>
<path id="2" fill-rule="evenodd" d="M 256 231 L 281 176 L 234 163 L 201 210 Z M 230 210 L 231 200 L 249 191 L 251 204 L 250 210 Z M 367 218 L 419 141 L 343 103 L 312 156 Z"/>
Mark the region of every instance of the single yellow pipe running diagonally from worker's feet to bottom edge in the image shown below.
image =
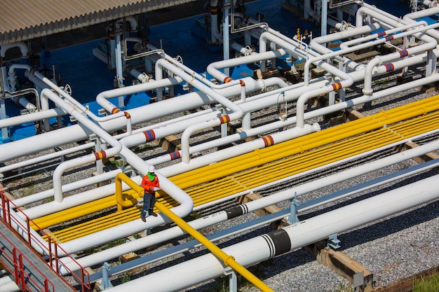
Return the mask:
<path id="1" fill-rule="evenodd" d="M 236 272 L 241 274 L 245 279 L 248 279 L 250 283 L 257 286 L 261 291 L 273 291 L 269 286 L 266 286 L 266 284 L 258 279 L 254 274 L 252 274 L 249 270 L 247 270 L 245 267 L 243 267 L 241 264 L 239 264 L 233 256 L 229 256 L 227 253 L 222 251 L 222 249 L 219 249 L 218 246 L 210 242 L 209 239 L 205 238 L 200 232 L 198 232 L 196 229 L 192 228 L 191 225 L 186 223 L 182 218 L 177 216 L 173 211 L 163 206 L 163 204 L 156 202 L 156 207 L 159 209 L 163 214 L 165 214 L 168 218 L 170 218 L 172 221 L 174 221 L 180 228 L 182 228 L 184 231 L 186 231 L 189 235 L 194 237 L 198 242 L 203 244 L 208 250 L 210 250 L 217 258 L 221 259 L 224 262 L 224 265 L 227 267 L 231 267 Z"/>

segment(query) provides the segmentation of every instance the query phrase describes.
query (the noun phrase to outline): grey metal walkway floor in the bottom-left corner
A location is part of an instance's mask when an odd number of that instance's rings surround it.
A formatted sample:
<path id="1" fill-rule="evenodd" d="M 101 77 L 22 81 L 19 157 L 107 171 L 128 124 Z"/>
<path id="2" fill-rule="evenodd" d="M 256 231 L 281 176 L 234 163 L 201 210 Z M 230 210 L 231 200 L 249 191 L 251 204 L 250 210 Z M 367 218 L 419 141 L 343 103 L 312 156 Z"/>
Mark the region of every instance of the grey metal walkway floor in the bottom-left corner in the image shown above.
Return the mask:
<path id="1" fill-rule="evenodd" d="M 76 291 L 1 220 L 0 239 L 0 260 L 23 291 Z"/>

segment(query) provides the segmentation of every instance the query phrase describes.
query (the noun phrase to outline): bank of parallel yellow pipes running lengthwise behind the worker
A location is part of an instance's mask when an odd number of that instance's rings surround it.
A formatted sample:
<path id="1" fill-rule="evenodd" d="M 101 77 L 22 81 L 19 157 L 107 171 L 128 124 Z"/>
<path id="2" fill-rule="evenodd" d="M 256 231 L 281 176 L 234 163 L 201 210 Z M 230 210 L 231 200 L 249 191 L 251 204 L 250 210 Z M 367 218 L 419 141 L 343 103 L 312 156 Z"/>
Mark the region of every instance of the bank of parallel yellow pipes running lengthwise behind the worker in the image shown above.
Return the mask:
<path id="1" fill-rule="evenodd" d="M 170 180 L 192 197 L 194 206 L 199 206 L 435 130 L 439 123 L 438 111 L 439 95 L 436 95 L 304 137 L 256 149 L 236 158 L 170 177 Z M 177 205 L 166 193 L 161 191 L 159 195 L 159 202 L 169 207 Z M 115 206 L 116 200 L 114 196 L 111 197 Z M 74 215 L 72 209 L 67 209 L 34 221 L 44 224 L 49 216 L 52 219 L 65 218 L 63 216 L 66 214 Z M 132 207 L 58 230 L 50 233 L 50 237 L 56 242 L 68 242 L 115 224 L 133 221 L 139 216 L 140 207 Z"/>

